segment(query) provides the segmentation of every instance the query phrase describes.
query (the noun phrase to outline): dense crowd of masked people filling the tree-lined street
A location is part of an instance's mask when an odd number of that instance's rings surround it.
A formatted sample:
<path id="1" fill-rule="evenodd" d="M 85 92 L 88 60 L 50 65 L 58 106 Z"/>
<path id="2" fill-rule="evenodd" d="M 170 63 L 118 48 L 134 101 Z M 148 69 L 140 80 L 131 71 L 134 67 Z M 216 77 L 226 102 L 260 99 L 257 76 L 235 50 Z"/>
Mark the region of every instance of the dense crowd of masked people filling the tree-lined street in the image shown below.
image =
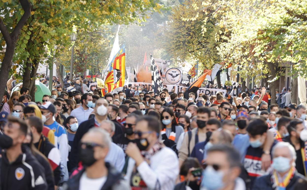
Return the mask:
<path id="1" fill-rule="evenodd" d="M 307 189 L 307 109 L 290 90 L 271 104 L 266 87 L 102 93 L 66 79 L 37 102 L 5 92 L 1 190 Z"/>

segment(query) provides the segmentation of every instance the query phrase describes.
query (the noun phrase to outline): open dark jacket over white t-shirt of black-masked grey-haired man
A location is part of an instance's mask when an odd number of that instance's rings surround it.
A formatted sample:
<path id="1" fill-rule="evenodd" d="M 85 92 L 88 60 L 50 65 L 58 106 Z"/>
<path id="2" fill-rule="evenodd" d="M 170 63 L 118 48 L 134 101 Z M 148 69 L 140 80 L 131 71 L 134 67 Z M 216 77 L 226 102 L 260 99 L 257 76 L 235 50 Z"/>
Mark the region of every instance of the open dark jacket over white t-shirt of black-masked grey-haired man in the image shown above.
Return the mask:
<path id="1" fill-rule="evenodd" d="M 108 162 L 106 162 L 106 167 L 108 169 L 107 180 L 102 186 L 101 190 L 128 190 L 130 186 L 124 181 L 122 174 L 117 172 Z M 82 169 L 76 176 L 73 176 L 64 185 L 64 190 L 78 190 L 80 187 L 80 178 L 84 173 Z"/>

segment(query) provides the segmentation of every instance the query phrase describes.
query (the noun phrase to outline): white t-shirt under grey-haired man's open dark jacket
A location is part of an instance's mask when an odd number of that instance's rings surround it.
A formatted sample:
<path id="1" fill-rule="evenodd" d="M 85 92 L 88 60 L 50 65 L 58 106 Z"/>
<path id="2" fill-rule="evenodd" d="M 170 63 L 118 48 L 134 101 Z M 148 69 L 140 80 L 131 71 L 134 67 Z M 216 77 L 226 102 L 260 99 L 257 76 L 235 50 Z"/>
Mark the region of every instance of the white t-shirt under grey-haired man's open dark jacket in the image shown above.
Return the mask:
<path id="1" fill-rule="evenodd" d="M 107 181 L 107 176 L 103 176 L 96 179 L 91 179 L 86 176 L 84 172 L 80 178 L 80 190 L 100 190 L 104 183 Z"/>

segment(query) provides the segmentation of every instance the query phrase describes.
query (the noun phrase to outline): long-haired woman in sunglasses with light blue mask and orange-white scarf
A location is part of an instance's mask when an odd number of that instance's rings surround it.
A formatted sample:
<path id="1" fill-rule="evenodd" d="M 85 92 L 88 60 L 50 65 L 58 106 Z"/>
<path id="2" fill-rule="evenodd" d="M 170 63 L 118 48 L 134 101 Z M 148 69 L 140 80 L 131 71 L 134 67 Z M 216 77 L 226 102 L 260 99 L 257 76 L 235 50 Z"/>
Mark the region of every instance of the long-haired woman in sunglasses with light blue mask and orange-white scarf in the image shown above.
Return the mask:
<path id="1" fill-rule="evenodd" d="M 177 143 L 179 136 L 184 132 L 181 125 L 178 125 L 174 112 L 165 108 L 161 114 L 162 130 L 161 137 L 164 140 L 164 144 L 168 147 L 172 147 Z"/>

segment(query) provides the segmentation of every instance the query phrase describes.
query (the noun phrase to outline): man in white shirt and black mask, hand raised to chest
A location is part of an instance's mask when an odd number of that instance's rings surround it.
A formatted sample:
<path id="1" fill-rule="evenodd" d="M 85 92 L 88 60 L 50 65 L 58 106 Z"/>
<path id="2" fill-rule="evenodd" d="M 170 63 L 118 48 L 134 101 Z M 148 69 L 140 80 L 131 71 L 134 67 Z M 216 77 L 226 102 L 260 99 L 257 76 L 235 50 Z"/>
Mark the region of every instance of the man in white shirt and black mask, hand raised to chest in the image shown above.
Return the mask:
<path id="1" fill-rule="evenodd" d="M 125 179 L 132 188 L 170 190 L 179 174 L 176 153 L 159 141 L 161 123 L 156 117 L 145 116 L 135 126 L 135 143 L 129 143 Z M 150 163 L 150 164 L 149 164 Z M 137 182 L 133 182 L 139 176 Z M 133 182 L 133 183 L 132 183 Z"/>

